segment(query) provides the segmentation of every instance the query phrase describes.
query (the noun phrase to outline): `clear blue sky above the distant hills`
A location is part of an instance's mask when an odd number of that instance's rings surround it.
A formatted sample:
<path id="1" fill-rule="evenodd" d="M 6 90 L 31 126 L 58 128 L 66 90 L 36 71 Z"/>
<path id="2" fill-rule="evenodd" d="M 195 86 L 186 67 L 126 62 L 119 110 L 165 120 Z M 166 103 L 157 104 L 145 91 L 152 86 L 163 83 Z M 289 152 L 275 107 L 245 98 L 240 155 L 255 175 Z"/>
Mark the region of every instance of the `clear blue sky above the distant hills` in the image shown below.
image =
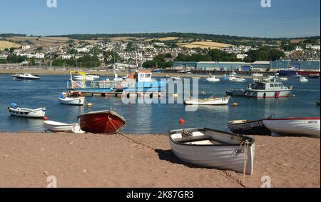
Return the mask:
<path id="1" fill-rule="evenodd" d="M 320 35 L 320 0 L 0 0 L 0 33 Z"/>

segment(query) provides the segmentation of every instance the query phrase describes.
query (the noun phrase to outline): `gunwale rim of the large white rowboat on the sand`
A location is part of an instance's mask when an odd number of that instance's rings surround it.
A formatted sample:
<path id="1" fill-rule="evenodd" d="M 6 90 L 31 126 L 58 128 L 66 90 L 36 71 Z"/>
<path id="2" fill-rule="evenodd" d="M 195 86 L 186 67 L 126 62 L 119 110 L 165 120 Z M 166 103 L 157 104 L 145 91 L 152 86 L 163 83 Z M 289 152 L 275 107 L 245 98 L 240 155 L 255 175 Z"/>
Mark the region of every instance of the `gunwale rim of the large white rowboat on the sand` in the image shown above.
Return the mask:
<path id="1" fill-rule="evenodd" d="M 182 129 L 178 129 L 178 130 L 173 130 L 173 131 L 169 131 L 168 132 L 168 136 L 169 136 L 169 139 L 172 143 L 175 143 L 177 145 L 181 145 L 181 146 L 192 146 L 192 147 L 197 147 L 197 146 L 202 146 L 202 147 L 213 147 L 213 146 L 241 146 L 241 143 L 240 144 L 217 144 L 217 145 L 196 145 L 196 144 L 187 144 L 187 143 L 180 143 L 178 141 L 175 141 L 173 138 L 172 138 L 172 135 L 174 134 L 175 131 L 180 131 Z M 186 130 L 195 130 L 195 131 L 214 131 L 214 132 L 218 132 L 218 133 L 225 133 L 225 134 L 228 134 L 230 136 L 235 136 L 235 137 L 241 137 L 243 138 L 243 141 L 248 139 L 250 140 L 249 144 L 250 146 L 253 146 L 253 144 L 255 143 L 255 138 L 252 138 L 250 136 L 244 136 L 244 135 L 240 135 L 240 134 L 235 134 L 235 133 L 230 133 L 230 132 L 225 132 L 225 131 L 218 131 L 218 130 L 215 130 L 215 129 L 211 129 L 211 128 L 188 128 Z"/>

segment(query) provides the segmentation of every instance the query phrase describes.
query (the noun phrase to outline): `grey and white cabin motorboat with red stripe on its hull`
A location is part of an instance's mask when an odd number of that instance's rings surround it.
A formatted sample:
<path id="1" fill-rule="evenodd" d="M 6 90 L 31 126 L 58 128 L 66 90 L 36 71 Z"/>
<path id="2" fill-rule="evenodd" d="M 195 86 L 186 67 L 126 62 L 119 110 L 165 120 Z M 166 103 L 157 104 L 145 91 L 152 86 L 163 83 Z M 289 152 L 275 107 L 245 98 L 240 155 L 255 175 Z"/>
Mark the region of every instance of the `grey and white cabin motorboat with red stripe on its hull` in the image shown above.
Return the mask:
<path id="1" fill-rule="evenodd" d="M 292 86 L 284 86 L 277 78 L 274 78 L 273 81 L 257 81 L 248 84 L 247 89 L 226 91 L 226 94 L 230 96 L 247 96 L 258 99 L 278 99 L 289 97 L 291 93 Z"/>

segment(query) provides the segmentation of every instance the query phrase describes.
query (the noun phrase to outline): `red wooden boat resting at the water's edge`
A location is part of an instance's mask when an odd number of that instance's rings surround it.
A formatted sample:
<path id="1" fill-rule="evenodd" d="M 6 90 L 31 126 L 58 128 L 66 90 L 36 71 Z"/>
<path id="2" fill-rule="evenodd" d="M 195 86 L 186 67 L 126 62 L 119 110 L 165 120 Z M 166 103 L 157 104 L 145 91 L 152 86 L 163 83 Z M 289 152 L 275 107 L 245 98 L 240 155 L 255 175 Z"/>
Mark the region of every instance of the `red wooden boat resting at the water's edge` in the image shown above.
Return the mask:
<path id="1" fill-rule="evenodd" d="M 125 118 L 115 111 L 93 111 L 78 116 L 81 130 L 88 133 L 117 133 L 126 124 Z"/>

